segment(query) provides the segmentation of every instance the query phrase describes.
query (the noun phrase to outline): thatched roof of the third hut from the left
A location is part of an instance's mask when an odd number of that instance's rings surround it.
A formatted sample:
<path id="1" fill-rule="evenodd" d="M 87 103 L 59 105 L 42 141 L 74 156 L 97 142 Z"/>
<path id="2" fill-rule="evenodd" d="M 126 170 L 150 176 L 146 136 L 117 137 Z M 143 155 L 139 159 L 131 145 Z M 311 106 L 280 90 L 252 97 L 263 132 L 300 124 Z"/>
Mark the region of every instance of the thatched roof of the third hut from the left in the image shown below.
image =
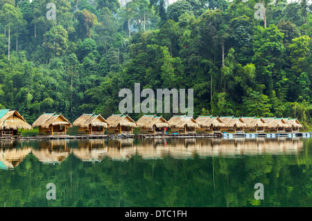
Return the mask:
<path id="1" fill-rule="evenodd" d="M 92 127 L 108 127 L 107 121 L 101 116 L 96 114 L 83 114 L 73 122 L 73 126 L 87 128 L 91 125 Z"/>

